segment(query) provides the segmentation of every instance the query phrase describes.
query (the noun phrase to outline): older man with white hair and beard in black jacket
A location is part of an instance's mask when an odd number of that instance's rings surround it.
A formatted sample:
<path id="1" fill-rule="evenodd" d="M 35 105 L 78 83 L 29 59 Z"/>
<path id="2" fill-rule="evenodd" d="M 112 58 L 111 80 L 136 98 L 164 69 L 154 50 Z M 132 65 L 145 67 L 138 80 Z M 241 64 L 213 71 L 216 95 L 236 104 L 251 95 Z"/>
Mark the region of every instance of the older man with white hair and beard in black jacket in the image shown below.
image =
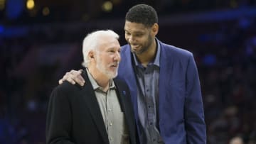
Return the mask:
<path id="1" fill-rule="evenodd" d="M 46 121 L 47 143 L 136 143 L 127 84 L 117 76 L 119 35 L 95 31 L 83 41 L 85 86 L 68 82 L 53 90 Z"/>

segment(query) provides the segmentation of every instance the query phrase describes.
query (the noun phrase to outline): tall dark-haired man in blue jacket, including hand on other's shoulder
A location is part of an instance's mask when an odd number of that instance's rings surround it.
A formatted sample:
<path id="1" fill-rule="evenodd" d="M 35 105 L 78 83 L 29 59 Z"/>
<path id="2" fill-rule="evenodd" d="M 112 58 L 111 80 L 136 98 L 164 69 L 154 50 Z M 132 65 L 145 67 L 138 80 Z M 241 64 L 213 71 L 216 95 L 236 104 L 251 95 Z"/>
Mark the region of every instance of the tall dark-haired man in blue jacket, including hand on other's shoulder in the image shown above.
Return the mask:
<path id="1" fill-rule="evenodd" d="M 142 144 L 204 144 L 206 124 L 193 54 L 162 43 L 156 11 L 133 6 L 125 17 L 125 38 L 118 77 L 129 86 Z M 83 84 L 80 71 L 63 80 Z"/>

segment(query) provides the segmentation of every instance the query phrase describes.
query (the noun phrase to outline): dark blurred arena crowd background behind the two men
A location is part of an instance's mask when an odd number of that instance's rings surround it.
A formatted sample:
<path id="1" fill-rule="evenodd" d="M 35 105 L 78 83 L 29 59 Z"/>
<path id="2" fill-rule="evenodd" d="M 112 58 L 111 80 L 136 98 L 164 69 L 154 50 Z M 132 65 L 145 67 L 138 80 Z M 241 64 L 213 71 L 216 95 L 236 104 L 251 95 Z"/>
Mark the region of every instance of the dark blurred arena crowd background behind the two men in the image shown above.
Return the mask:
<path id="1" fill-rule="evenodd" d="M 256 0 L 0 0 L 0 143 L 46 143 L 50 92 L 82 68 L 82 39 L 110 28 L 124 45 L 141 3 L 158 11 L 161 41 L 195 56 L 208 144 L 255 144 Z"/>

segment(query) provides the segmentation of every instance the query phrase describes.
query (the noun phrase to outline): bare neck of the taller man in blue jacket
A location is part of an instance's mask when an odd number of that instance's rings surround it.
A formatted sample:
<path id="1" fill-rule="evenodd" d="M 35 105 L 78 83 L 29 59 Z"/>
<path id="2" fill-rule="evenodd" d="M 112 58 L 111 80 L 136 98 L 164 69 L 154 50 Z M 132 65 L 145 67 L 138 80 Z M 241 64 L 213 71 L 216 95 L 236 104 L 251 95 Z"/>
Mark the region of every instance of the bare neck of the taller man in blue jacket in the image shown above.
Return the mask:
<path id="1" fill-rule="evenodd" d="M 152 43 L 152 45 L 150 45 L 151 48 L 149 48 L 148 50 L 146 50 L 145 52 L 142 52 L 137 56 L 137 59 L 139 60 L 139 62 L 141 62 L 141 64 L 146 67 L 146 65 L 149 64 L 149 62 L 151 62 L 152 60 L 154 60 L 154 58 L 156 57 L 156 40 L 154 40 L 154 43 Z"/>

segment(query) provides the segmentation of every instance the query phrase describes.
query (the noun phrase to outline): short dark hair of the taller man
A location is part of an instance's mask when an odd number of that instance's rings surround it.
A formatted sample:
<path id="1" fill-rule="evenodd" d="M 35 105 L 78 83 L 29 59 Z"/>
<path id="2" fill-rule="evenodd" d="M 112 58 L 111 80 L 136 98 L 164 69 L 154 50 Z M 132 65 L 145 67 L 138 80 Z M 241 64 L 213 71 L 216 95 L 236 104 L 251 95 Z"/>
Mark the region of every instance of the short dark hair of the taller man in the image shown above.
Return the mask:
<path id="1" fill-rule="evenodd" d="M 125 21 L 142 23 L 144 26 L 153 26 L 154 23 L 158 23 L 158 17 L 156 10 L 152 6 L 138 4 L 129 9 L 126 13 Z"/>

